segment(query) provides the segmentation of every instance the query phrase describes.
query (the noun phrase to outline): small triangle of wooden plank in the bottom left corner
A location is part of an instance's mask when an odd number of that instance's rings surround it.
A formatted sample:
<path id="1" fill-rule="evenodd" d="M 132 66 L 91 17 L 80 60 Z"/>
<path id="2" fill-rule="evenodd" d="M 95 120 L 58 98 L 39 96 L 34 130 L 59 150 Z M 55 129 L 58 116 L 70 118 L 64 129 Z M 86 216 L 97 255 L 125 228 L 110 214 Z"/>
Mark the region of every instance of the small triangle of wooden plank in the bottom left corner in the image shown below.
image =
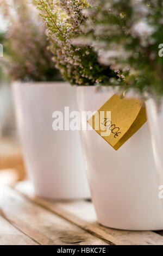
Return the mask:
<path id="1" fill-rule="evenodd" d="M 0 216 L 0 245 L 39 245 Z"/>

